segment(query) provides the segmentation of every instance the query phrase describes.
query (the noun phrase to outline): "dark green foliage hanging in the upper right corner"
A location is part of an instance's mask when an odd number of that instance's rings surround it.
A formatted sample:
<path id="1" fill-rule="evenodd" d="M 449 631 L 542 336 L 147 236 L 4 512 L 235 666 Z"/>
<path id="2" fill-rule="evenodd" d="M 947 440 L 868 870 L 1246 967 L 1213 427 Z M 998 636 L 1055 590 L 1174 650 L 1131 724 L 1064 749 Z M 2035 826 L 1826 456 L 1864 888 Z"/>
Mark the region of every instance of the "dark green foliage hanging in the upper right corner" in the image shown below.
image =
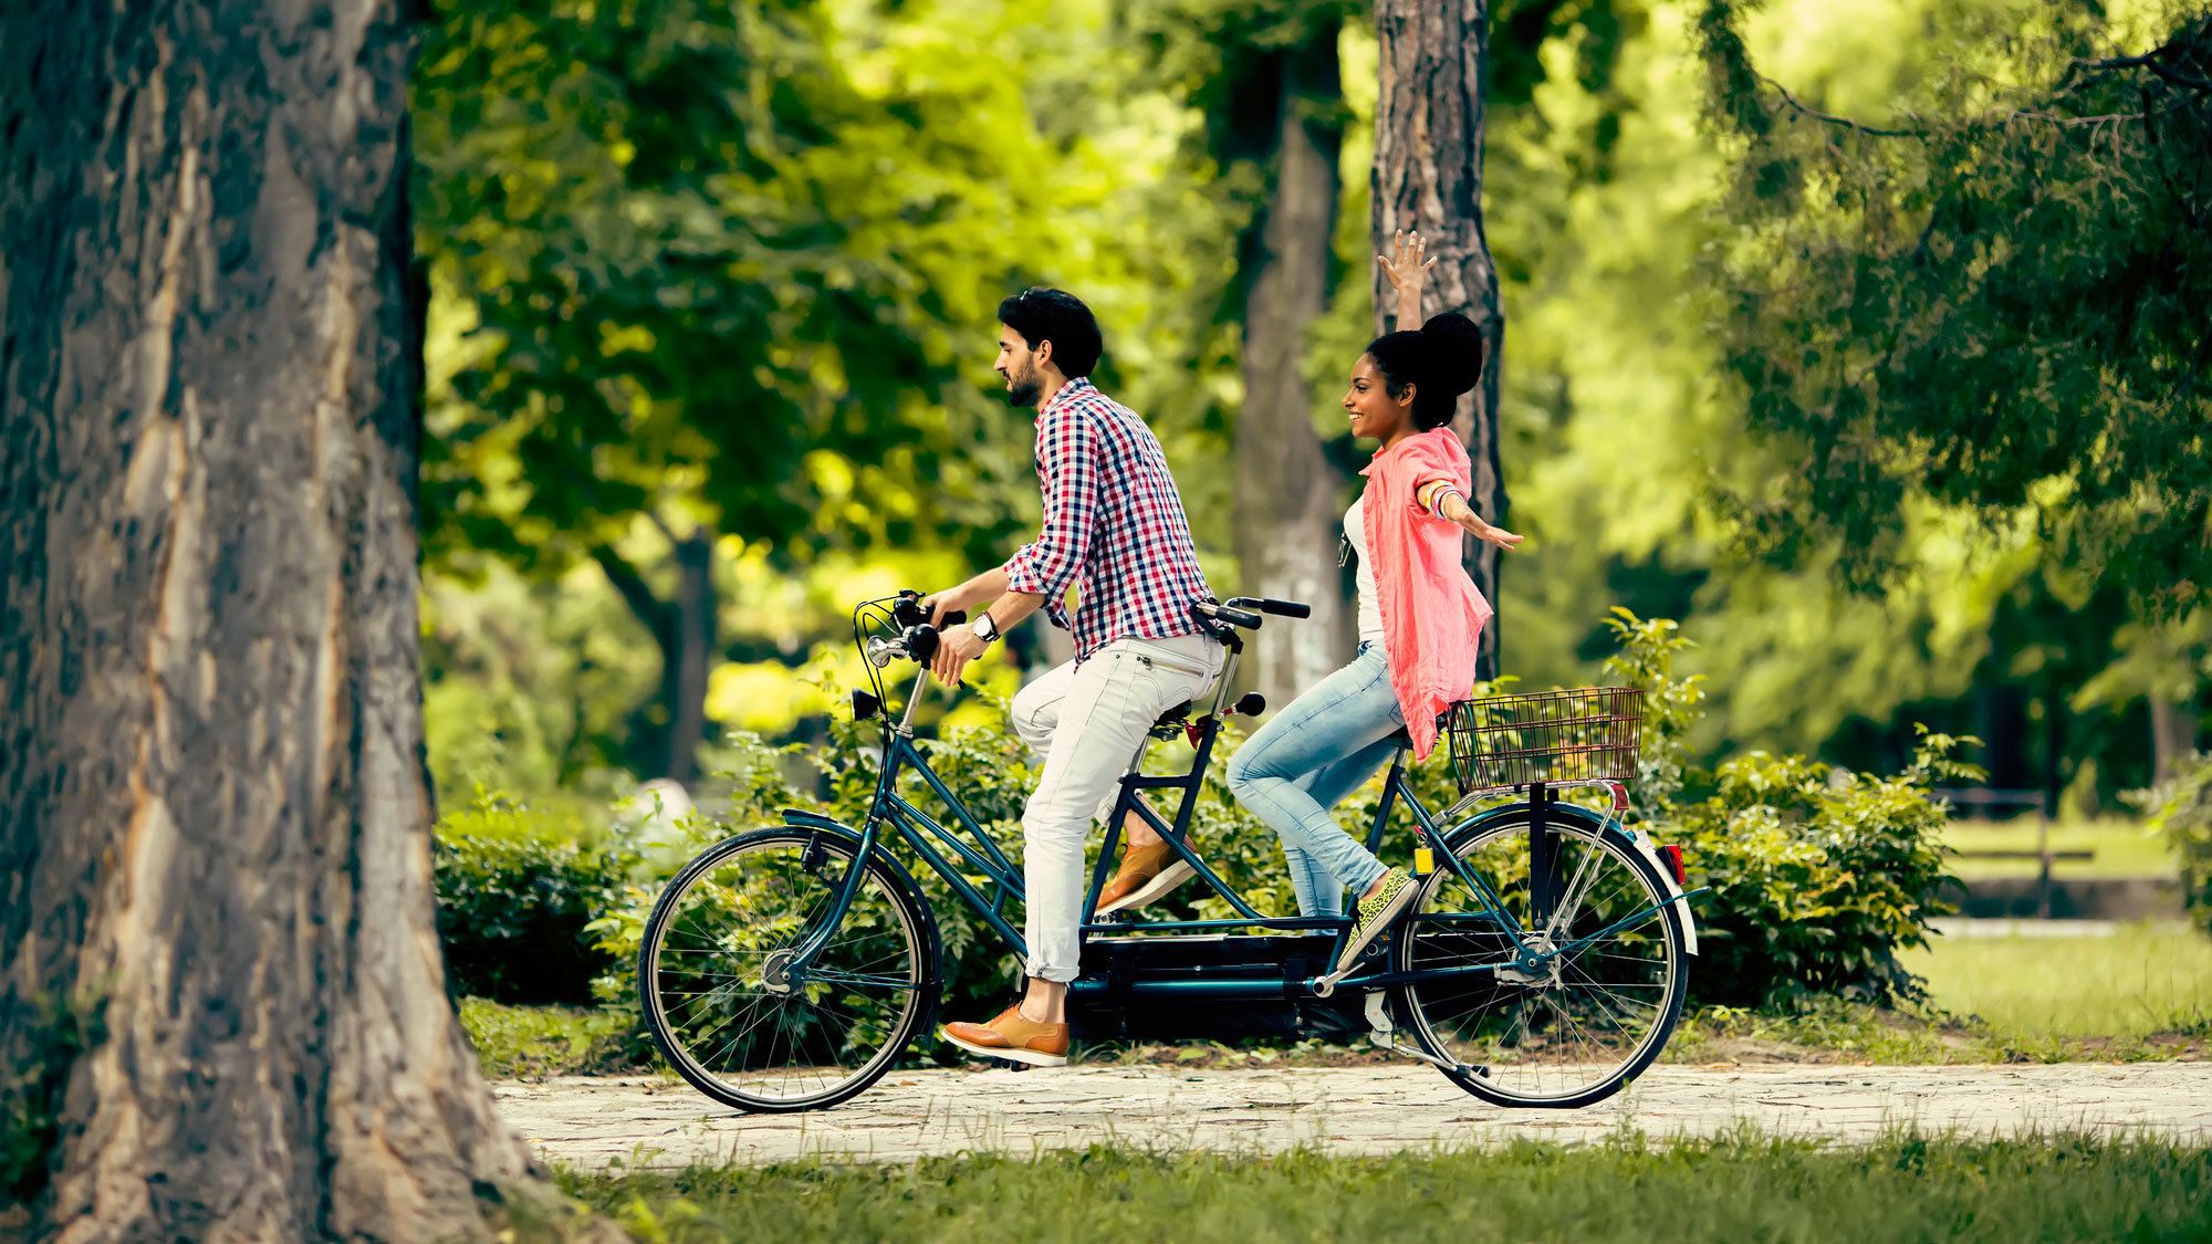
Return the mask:
<path id="1" fill-rule="evenodd" d="M 1761 75 L 1747 4 L 1699 22 L 1734 153 L 1710 252 L 1747 427 L 1745 545 L 1893 582 L 1913 500 L 2033 522 L 2154 613 L 2212 582 L 2212 18 L 1931 9 L 1922 80 L 1871 122 Z"/>

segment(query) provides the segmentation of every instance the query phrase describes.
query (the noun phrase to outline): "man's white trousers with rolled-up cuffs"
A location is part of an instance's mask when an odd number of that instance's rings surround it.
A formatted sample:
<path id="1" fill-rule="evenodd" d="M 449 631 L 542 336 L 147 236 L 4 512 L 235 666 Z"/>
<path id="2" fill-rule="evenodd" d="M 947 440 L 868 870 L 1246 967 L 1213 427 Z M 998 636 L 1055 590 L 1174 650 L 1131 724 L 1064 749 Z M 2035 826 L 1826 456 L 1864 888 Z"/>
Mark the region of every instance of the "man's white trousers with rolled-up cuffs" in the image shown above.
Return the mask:
<path id="1" fill-rule="evenodd" d="M 1152 722 L 1219 673 L 1221 644 L 1201 635 L 1115 640 L 1013 697 L 1015 733 L 1044 753 L 1044 775 L 1022 812 L 1031 976 L 1075 978 L 1091 821 L 1113 812 Z"/>

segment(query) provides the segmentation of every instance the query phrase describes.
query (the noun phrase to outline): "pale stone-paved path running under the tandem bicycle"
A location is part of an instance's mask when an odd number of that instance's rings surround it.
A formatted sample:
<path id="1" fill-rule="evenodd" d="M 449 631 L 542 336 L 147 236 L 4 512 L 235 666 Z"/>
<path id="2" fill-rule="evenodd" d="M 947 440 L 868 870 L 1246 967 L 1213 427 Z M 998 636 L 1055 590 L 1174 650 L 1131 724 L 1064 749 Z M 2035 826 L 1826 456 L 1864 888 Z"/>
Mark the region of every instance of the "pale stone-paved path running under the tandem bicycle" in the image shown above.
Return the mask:
<path id="1" fill-rule="evenodd" d="M 1756 1124 L 1767 1133 L 1865 1140 L 1898 1124 L 1971 1136 L 2154 1133 L 2212 1144 L 2212 1062 L 2046 1067 L 1657 1067 L 1582 1111 L 1489 1107 L 1427 1067 L 1190 1071 L 907 1071 L 816 1113 L 745 1116 L 677 1080 L 564 1078 L 495 1085 L 538 1153 L 602 1167 L 772 1162 L 807 1153 L 907 1162 L 931 1153 L 1086 1147 L 1332 1151 L 1661 1140 Z"/>

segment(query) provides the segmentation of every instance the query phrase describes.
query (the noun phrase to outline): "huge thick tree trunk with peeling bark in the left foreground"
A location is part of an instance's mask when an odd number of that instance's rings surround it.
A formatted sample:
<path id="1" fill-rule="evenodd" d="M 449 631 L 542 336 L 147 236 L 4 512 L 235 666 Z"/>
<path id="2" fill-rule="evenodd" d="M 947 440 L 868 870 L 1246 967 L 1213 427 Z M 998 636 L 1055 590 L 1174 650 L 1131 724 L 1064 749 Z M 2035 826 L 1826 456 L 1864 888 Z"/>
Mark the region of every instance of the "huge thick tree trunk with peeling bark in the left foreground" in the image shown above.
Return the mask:
<path id="1" fill-rule="evenodd" d="M 431 927 L 411 51 L 389 0 L 0 18 L 0 1067 L 40 1071 L 7 1102 L 35 1235 L 471 1237 L 529 1175 Z"/>

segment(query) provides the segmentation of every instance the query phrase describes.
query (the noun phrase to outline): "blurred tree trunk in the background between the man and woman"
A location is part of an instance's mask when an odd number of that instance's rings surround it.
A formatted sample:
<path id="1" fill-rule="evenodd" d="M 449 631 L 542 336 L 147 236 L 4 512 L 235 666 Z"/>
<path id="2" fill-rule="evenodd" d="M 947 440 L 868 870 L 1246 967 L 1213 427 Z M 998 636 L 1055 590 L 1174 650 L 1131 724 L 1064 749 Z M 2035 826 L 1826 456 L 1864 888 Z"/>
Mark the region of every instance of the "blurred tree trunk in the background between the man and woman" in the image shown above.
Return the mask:
<path id="1" fill-rule="evenodd" d="M 1270 631 L 1248 668 L 1274 704 L 1345 664 L 1352 602 L 1336 571 L 1345 480 L 1321 452 L 1305 383 L 1307 332 L 1329 305 L 1343 128 L 1325 111 L 1343 93 L 1334 22 L 1267 58 L 1254 86 L 1274 86 L 1267 144 L 1274 193 L 1245 239 L 1243 383 L 1237 414 L 1234 538 L 1239 595 L 1303 600 L 1314 618 Z M 1272 80 L 1272 82 L 1270 82 Z"/>

